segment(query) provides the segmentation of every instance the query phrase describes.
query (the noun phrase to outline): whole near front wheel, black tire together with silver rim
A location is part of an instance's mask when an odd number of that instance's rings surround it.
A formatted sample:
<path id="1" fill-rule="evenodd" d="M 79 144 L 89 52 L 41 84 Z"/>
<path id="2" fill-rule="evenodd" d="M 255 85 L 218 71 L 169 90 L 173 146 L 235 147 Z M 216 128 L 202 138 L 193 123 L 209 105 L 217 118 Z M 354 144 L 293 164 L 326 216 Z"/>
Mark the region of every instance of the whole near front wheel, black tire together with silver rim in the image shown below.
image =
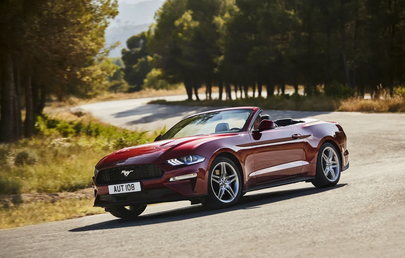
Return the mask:
<path id="1" fill-rule="evenodd" d="M 225 175 L 222 174 L 224 167 Z M 230 159 L 226 157 L 214 159 L 208 180 L 208 197 L 203 203 L 204 206 L 210 209 L 223 209 L 238 202 L 243 188 L 242 178 L 238 167 Z"/>

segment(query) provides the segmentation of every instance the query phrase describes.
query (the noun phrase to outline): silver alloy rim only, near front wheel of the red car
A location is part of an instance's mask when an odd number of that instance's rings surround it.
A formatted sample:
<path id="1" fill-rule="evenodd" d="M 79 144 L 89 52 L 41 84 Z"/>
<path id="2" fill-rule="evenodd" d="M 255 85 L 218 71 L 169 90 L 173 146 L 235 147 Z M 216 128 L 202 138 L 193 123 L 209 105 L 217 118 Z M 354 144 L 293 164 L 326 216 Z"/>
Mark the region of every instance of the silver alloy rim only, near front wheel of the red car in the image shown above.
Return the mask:
<path id="1" fill-rule="evenodd" d="M 227 162 L 218 163 L 211 175 L 211 187 L 221 202 L 233 201 L 239 191 L 239 177 L 234 167 Z"/>

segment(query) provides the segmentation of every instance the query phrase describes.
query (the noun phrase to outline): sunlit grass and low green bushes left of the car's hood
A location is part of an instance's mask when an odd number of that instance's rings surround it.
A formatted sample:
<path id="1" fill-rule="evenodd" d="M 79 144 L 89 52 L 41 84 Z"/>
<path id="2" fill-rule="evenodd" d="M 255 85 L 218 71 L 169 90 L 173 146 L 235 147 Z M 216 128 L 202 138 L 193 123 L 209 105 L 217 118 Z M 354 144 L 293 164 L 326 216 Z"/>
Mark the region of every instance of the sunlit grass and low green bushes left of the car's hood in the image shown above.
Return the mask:
<path id="1" fill-rule="evenodd" d="M 129 146 L 152 142 L 164 133 L 135 132 L 81 120 L 39 116 L 36 135 L 0 144 L 0 194 L 60 192 L 91 187 L 96 163 Z"/>

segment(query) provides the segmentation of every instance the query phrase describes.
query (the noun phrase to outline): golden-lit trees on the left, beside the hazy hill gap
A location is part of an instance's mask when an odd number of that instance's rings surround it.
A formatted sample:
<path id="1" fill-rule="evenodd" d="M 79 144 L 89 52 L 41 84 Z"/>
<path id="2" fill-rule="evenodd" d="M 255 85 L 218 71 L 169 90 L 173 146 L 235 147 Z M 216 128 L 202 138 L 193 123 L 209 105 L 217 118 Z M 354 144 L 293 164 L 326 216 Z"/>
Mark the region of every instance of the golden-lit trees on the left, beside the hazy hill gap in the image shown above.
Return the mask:
<path id="1" fill-rule="evenodd" d="M 0 10 L 0 140 L 11 141 L 22 135 L 22 104 L 30 136 L 47 95 L 87 95 L 114 72 L 102 57 L 108 52 L 104 30 L 117 15 L 117 2 L 4 0 Z"/>

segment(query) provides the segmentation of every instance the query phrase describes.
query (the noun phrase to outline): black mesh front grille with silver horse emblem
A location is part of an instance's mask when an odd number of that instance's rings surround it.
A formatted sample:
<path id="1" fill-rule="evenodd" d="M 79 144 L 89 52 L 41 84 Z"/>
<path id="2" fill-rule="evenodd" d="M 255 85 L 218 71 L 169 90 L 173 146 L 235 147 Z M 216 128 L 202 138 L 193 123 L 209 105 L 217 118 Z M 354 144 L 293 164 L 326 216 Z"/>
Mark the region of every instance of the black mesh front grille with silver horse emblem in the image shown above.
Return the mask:
<path id="1" fill-rule="evenodd" d="M 124 173 L 124 171 L 130 173 Z M 136 180 L 160 178 L 164 171 L 154 164 L 130 165 L 122 167 L 112 167 L 98 171 L 96 177 L 97 184 L 124 183 Z M 125 176 L 127 174 L 127 176 Z"/>

